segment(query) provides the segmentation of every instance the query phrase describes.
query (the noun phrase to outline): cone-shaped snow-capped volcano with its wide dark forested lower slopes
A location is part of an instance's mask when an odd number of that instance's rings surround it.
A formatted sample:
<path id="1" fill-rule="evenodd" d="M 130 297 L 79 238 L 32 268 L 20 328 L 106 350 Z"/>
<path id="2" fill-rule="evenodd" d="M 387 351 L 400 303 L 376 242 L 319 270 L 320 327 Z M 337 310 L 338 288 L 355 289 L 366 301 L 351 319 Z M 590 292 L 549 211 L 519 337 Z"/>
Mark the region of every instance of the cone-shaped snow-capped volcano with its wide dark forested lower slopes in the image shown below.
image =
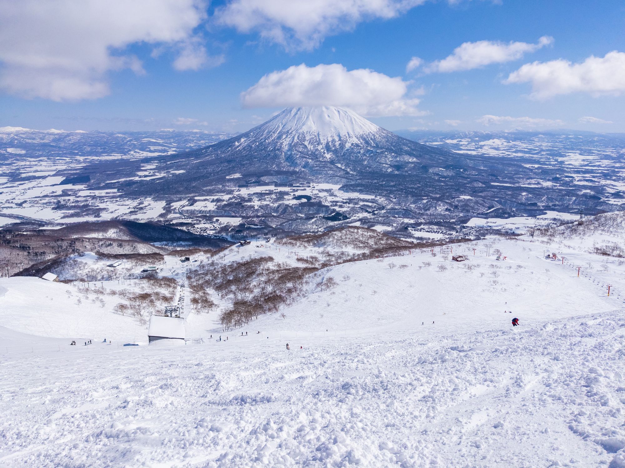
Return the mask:
<path id="1" fill-rule="evenodd" d="M 465 134 L 464 139 L 472 141 L 477 135 Z M 483 141 L 495 136 L 479 133 Z M 576 187 L 574 177 L 553 182 L 562 175 L 560 166 L 536 171 L 530 154 L 502 158 L 453 152 L 445 147 L 451 146 L 448 140 L 421 144 L 347 109 L 296 107 L 211 146 L 141 162 L 96 164 L 85 167 L 83 174 L 91 176 L 94 186 L 123 189 L 134 196 L 197 196 L 214 192 L 214 187 L 241 184 L 326 182 L 346 191 L 395 197 L 402 207 L 441 202 L 462 212 L 496 206 L 597 209 L 596 192 Z M 159 177 L 129 180 L 148 162 L 160 171 Z M 549 183 L 538 184 L 540 180 Z"/>

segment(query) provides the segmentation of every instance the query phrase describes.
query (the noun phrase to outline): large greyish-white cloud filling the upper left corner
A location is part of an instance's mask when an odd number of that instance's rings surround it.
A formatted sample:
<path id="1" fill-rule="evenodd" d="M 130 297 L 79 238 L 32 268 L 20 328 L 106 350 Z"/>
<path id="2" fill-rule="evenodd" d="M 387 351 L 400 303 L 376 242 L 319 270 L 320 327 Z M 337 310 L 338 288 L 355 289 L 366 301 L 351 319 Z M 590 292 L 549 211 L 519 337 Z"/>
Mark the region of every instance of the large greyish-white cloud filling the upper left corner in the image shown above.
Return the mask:
<path id="1" fill-rule="evenodd" d="M 27 98 L 95 99 L 108 72 L 143 72 L 131 44 L 178 51 L 177 69 L 210 61 L 194 29 L 203 0 L 20 0 L 0 2 L 0 88 Z"/>

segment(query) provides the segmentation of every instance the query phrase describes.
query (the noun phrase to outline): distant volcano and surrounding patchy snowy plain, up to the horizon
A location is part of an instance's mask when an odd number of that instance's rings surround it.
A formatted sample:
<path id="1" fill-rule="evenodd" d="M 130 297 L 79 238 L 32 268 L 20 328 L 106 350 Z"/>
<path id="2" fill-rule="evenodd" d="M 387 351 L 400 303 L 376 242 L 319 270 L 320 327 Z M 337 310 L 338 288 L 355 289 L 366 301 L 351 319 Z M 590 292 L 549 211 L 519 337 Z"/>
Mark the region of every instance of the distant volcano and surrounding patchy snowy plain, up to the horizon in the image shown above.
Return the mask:
<path id="1" fill-rule="evenodd" d="M 617 211 L 625 201 L 623 134 L 397 133 L 347 109 L 294 107 L 236 136 L 5 128 L 0 149 L 12 181 L 21 177 L 21 158 L 71 157 L 74 164 L 54 166 L 67 186 L 58 199 L 100 191 L 74 203 L 79 213 L 100 209 L 105 193 L 111 204 L 151 199 L 165 202 L 164 212 L 156 211 L 163 221 L 185 212 L 206 226 L 217 226 L 216 217 L 239 219 L 232 229 L 241 235 L 354 222 L 448 226 L 476 215 L 547 210 L 592 214 Z M 70 201 L 57 206 L 73 209 Z M 133 212 L 115 216 L 133 219 Z"/>

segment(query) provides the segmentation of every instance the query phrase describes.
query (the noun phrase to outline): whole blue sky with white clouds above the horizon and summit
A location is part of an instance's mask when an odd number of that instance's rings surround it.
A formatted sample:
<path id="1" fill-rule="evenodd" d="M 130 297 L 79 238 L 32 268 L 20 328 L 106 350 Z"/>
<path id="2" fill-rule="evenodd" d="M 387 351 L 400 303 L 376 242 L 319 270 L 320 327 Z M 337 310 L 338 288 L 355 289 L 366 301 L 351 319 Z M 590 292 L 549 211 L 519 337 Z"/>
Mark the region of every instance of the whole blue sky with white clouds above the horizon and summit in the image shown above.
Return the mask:
<path id="1" fill-rule="evenodd" d="M 327 104 L 388 129 L 625 131 L 620 0 L 50 3 L 0 0 L 0 126 L 244 131 Z"/>

